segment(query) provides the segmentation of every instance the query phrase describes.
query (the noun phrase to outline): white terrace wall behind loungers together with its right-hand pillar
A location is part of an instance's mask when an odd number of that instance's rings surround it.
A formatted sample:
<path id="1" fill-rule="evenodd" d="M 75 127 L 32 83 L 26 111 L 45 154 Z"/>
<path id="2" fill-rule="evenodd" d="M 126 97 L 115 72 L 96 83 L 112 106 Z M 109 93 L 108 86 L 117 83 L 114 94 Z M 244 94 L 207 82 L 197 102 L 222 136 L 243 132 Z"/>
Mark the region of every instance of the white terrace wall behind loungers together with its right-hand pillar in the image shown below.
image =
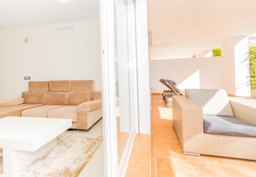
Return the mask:
<path id="1" fill-rule="evenodd" d="M 222 57 L 150 61 L 151 88 L 167 88 L 159 79 L 174 80 L 179 89 L 224 89 L 235 96 L 250 96 L 248 37 L 232 37 L 221 43 Z"/>

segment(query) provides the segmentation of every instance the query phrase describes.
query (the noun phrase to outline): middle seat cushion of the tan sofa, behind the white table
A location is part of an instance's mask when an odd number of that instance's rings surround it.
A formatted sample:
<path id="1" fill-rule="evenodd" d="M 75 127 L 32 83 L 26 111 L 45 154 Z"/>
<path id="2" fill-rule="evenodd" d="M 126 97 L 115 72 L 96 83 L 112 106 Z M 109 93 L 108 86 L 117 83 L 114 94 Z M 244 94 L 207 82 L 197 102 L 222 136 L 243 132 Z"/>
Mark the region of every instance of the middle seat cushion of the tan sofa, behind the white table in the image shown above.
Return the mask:
<path id="1" fill-rule="evenodd" d="M 48 117 L 48 111 L 63 107 L 64 105 L 43 105 L 32 109 L 26 109 L 21 112 L 22 117 Z"/>

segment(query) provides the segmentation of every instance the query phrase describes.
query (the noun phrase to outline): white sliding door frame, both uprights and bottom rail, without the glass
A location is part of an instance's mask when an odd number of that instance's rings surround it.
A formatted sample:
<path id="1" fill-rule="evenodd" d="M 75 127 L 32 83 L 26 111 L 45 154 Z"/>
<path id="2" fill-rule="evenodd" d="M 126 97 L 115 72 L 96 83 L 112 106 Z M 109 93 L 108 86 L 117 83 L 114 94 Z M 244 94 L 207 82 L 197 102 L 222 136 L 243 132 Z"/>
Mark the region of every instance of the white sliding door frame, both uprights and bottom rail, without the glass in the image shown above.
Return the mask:
<path id="1" fill-rule="evenodd" d="M 132 88 L 133 96 L 137 101 L 137 60 L 135 46 L 135 10 L 134 1 L 126 0 L 133 8 L 130 18 L 132 21 L 132 45 L 133 53 L 130 58 L 133 59 L 134 66 L 132 72 L 135 73 L 135 84 Z M 124 177 L 132 145 L 134 143 L 135 131 L 138 129 L 138 105 L 135 104 L 133 131 L 130 133 L 128 142 L 118 163 L 117 155 L 117 119 L 116 119 L 116 96 L 115 96 L 115 33 L 114 33 L 114 8 L 113 0 L 100 0 L 100 23 L 101 23 L 101 48 L 102 48 L 102 99 L 103 99 L 103 121 L 104 121 L 104 157 L 105 157 L 105 176 L 106 177 Z"/>

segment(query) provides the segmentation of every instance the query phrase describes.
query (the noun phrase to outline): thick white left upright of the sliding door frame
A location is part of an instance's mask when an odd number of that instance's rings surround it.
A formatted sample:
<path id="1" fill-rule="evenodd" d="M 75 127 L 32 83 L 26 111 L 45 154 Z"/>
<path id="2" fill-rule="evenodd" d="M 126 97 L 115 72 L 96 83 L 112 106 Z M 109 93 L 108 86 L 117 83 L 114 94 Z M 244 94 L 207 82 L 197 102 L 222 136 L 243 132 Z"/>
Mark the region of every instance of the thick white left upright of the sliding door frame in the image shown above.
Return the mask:
<path id="1" fill-rule="evenodd" d="M 105 177 L 117 177 L 113 0 L 100 0 Z"/>

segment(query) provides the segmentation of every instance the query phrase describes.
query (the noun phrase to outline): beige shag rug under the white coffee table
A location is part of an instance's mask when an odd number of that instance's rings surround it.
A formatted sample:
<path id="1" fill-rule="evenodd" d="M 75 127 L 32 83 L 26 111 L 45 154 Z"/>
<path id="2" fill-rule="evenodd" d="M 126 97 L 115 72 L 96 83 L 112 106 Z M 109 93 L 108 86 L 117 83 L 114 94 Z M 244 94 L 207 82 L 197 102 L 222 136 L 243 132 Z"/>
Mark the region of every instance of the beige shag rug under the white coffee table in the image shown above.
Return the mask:
<path id="1" fill-rule="evenodd" d="M 103 140 L 102 136 L 63 133 L 57 144 L 12 177 L 77 177 Z M 0 177 L 3 156 L 0 157 Z"/>

